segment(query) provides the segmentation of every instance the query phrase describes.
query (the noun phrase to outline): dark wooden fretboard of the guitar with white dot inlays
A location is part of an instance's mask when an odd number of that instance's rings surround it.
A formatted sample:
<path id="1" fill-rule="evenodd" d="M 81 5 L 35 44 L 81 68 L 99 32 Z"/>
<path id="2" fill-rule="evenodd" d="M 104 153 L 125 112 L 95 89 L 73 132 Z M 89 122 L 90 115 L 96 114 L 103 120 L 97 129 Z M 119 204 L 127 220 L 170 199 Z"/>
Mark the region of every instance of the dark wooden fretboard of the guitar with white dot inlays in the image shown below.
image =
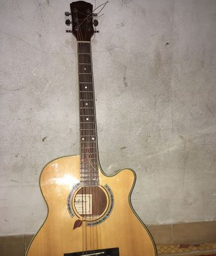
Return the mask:
<path id="1" fill-rule="evenodd" d="M 77 52 L 80 102 L 80 184 L 96 186 L 99 185 L 99 172 L 90 41 L 78 41 Z"/>

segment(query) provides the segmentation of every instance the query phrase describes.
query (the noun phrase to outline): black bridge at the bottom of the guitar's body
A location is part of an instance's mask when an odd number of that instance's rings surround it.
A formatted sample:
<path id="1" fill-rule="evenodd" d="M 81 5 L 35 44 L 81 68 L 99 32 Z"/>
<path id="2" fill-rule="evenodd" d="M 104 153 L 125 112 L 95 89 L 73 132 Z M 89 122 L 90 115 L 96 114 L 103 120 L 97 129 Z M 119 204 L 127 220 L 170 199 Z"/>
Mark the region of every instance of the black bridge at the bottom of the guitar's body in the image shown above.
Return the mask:
<path id="1" fill-rule="evenodd" d="M 100 250 L 90 250 L 83 252 L 64 253 L 64 256 L 120 256 L 119 248 L 108 248 Z"/>

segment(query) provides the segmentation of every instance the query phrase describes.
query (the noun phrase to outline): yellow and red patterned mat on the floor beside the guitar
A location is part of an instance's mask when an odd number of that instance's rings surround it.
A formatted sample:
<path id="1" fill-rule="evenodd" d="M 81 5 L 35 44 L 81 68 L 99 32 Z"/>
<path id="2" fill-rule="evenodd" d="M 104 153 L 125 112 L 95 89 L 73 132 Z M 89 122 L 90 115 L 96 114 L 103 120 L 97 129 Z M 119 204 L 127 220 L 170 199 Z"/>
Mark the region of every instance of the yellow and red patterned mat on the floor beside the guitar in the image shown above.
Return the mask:
<path id="1" fill-rule="evenodd" d="M 216 242 L 198 245 L 157 245 L 157 253 L 161 256 L 216 256 Z"/>

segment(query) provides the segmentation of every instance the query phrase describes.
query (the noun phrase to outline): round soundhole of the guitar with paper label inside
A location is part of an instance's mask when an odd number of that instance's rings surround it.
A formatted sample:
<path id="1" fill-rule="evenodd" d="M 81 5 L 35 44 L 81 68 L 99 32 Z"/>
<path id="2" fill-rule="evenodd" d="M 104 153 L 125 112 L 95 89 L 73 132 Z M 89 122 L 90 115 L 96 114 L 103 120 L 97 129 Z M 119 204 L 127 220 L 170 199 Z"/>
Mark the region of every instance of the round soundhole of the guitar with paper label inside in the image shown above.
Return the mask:
<path id="1" fill-rule="evenodd" d="M 99 186 L 83 186 L 73 200 L 76 212 L 87 221 L 96 220 L 108 208 L 108 195 Z"/>

